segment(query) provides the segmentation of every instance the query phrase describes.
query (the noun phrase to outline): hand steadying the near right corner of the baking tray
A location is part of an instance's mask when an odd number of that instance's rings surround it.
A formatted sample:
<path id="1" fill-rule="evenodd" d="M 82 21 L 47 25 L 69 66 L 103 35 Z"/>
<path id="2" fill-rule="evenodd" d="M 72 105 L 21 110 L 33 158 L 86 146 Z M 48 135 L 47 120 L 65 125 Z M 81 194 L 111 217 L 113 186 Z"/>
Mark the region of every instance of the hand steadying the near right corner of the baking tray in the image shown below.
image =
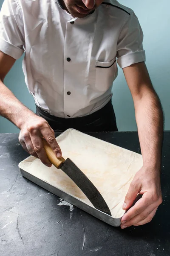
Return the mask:
<path id="1" fill-rule="evenodd" d="M 133 178 L 125 197 L 123 209 L 129 209 L 138 193 L 142 195 L 121 220 L 121 228 L 139 226 L 150 222 L 162 203 L 160 174 L 153 167 L 143 166 Z"/>

